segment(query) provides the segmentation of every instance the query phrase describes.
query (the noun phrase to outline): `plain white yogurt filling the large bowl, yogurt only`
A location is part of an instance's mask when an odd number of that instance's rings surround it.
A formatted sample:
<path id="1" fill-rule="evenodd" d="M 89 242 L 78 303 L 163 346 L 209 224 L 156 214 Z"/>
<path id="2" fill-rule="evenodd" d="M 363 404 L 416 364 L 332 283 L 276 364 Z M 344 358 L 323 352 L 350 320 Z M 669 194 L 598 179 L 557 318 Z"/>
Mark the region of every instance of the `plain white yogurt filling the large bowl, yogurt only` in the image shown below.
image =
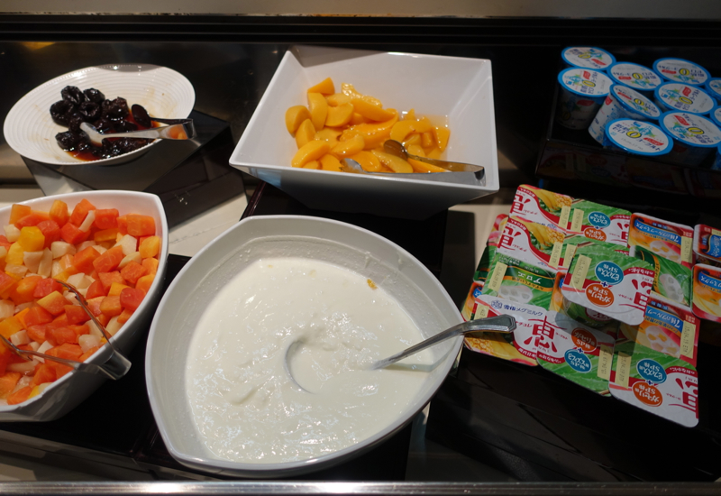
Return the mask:
<path id="1" fill-rule="evenodd" d="M 292 257 L 253 262 L 218 291 L 191 339 L 195 435 L 211 454 L 249 464 L 354 445 L 407 409 L 434 361 L 426 350 L 368 366 L 422 339 L 397 301 L 355 272 Z M 297 384 L 285 368 L 293 343 Z"/>

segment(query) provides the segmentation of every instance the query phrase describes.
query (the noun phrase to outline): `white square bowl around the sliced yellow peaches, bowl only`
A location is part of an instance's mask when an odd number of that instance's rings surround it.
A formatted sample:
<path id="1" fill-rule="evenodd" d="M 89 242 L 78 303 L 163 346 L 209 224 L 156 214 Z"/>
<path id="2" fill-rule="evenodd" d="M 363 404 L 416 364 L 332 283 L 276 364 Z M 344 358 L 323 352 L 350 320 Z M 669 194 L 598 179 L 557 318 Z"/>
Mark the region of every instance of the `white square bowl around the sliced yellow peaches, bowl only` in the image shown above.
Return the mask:
<path id="1" fill-rule="evenodd" d="M 364 176 L 290 166 L 297 145 L 286 110 L 307 106 L 306 89 L 333 78 L 375 96 L 385 107 L 447 116 L 446 160 L 481 165 L 479 180 L 457 184 Z M 296 47 L 287 51 L 230 159 L 231 165 L 282 189 L 311 208 L 422 219 L 498 190 L 496 123 L 490 60 Z"/>

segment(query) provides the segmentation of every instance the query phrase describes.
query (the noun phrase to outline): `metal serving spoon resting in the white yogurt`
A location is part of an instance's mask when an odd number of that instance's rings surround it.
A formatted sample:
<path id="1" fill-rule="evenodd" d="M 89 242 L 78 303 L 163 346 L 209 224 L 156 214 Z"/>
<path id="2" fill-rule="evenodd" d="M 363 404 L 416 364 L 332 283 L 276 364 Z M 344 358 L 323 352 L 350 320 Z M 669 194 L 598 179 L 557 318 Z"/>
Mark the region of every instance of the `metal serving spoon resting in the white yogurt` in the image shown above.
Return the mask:
<path id="1" fill-rule="evenodd" d="M 418 344 L 414 344 L 413 346 L 406 348 L 402 352 L 393 354 L 391 356 L 388 356 L 388 358 L 384 358 L 383 360 L 374 362 L 370 365 L 370 367 L 368 367 L 368 370 L 374 371 L 377 369 L 382 369 L 384 367 L 387 367 L 391 363 L 396 363 L 400 360 L 403 360 L 404 358 L 406 358 L 406 356 L 416 354 L 424 350 L 425 348 L 433 346 L 434 344 L 439 344 L 446 339 L 451 339 L 452 337 L 456 337 L 458 335 L 472 336 L 474 333 L 512 333 L 515 329 L 516 319 L 507 315 L 469 320 L 468 322 L 463 322 L 456 326 L 449 327 L 448 329 L 438 333 L 437 335 L 433 335 Z M 288 377 L 290 377 L 290 380 L 293 381 L 301 390 L 306 390 L 306 388 L 298 384 L 296 378 L 293 376 L 293 372 L 290 371 L 290 366 L 288 365 L 289 355 L 296 353 L 297 348 L 301 344 L 302 343 L 300 341 L 294 341 L 288 345 L 284 357 L 284 367 L 286 369 Z"/>

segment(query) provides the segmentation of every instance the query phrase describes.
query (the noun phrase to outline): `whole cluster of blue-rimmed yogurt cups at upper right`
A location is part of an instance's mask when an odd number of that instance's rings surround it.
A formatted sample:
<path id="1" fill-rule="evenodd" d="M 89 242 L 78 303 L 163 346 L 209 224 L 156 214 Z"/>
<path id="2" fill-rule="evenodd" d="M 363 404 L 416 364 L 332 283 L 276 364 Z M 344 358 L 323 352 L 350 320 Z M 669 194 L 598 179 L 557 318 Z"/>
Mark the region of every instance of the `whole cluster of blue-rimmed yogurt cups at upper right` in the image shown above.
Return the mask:
<path id="1" fill-rule="evenodd" d="M 716 152 L 721 170 L 721 78 L 695 62 L 663 58 L 648 68 L 594 47 L 561 51 L 568 67 L 556 121 L 588 129 L 604 147 L 698 166 Z"/>

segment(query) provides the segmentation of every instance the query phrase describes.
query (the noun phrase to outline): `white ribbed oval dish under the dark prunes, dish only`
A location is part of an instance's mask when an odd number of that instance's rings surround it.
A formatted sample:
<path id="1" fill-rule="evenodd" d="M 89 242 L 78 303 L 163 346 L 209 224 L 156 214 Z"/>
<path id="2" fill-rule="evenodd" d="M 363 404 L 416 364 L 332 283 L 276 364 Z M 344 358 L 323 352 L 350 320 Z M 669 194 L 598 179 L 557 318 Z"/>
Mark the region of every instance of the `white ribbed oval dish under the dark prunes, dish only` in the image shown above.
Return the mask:
<path id="1" fill-rule="evenodd" d="M 36 87 L 23 96 L 5 117 L 5 141 L 15 151 L 32 159 L 53 165 L 87 164 L 64 152 L 55 141 L 55 134 L 68 131 L 53 122 L 50 106 L 62 99 L 60 90 L 66 86 L 85 90 L 95 87 L 105 98 L 122 96 L 128 106 L 144 106 L 154 117 L 184 119 L 196 102 L 193 85 L 182 74 L 151 64 L 110 64 L 78 69 Z M 93 161 L 96 165 L 131 161 L 159 142 L 151 142 L 134 152 L 112 159 Z"/>

